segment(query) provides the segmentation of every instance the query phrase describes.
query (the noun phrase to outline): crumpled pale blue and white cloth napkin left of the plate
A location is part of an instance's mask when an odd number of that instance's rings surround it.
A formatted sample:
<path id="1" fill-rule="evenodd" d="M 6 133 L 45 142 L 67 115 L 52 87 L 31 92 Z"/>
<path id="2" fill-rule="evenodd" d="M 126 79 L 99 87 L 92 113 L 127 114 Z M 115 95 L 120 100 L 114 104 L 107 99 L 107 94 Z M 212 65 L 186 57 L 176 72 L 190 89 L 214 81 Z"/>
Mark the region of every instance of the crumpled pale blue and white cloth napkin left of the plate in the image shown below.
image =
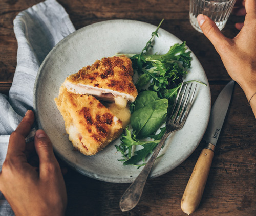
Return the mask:
<path id="1" fill-rule="evenodd" d="M 0 93 L 0 170 L 10 134 L 28 109 L 33 109 L 33 87 L 46 55 L 60 40 L 75 31 L 65 9 L 55 0 L 46 0 L 20 12 L 13 21 L 18 43 L 17 67 L 9 97 Z M 0 215 L 14 215 L 0 192 Z"/>

